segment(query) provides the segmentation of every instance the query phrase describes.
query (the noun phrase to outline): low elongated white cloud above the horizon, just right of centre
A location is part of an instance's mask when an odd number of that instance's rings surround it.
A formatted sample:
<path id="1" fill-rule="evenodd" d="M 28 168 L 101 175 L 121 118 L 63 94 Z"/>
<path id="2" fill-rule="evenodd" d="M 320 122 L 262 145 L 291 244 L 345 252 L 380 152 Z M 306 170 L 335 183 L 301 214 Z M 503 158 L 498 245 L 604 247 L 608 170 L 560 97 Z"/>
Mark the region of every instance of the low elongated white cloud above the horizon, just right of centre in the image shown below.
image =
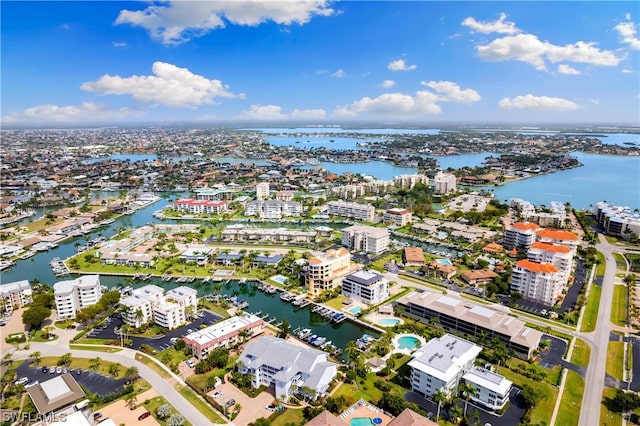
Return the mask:
<path id="1" fill-rule="evenodd" d="M 389 117 L 410 117 L 424 114 L 440 114 L 436 104 L 437 96 L 426 90 L 414 96 L 404 93 L 385 93 L 377 98 L 364 97 L 349 105 L 335 109 L 334 114 L 343 117 L 355 117 L 360 113 L 371 113 Z"/>

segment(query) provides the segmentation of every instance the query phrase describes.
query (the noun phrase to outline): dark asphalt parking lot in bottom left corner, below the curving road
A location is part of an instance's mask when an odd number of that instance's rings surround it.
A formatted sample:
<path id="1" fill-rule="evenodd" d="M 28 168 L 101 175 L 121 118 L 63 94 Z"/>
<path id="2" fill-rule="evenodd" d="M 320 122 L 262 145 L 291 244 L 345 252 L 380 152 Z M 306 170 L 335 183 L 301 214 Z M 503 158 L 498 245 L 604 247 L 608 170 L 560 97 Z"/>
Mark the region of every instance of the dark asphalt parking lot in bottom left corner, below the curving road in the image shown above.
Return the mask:
<path id="1" fill-rule="evenodd" d="M 43 368 L 49 368 L 49 365 L 41 365 L 38 367 L 31 366 L 32 360 L 26 360 L 18 369 L 17 377 L 26 377 L 28 382 L 38 381 L 42 383 L 46 380 L 59 376 L 62 373 L 49 373 L 44 372 Z M 109 395 L 114 392 L 122 390 L 125 385 L 125 379 L 114 379 L 113 377 L 106 376 L 104 374 L 96 373 L 95 371 L 80 370 L 80 374 L 77 374 L 77 370 L 69 371 L 73 375 L 73 378 L 82 386 L 87 388 L 91 393 L 97 393 L 99 396 Z"/>

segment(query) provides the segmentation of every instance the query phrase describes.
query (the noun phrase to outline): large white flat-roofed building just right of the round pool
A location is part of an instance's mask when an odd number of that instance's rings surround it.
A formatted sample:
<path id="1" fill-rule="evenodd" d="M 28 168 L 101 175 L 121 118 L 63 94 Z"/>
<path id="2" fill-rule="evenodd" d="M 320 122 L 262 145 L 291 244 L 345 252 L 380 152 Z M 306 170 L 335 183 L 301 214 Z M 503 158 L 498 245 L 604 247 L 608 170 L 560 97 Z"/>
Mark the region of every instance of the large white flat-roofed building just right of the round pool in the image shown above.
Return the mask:
<path id="1" fill-rule="evenodd" d="M 480 346 L 451 334 L 429 340 L 409 361 L 411 389 L 424 397 L 431 397 L 438 390 L 455 395 L 460 379 L 471 369 L 480 351 Z"/>

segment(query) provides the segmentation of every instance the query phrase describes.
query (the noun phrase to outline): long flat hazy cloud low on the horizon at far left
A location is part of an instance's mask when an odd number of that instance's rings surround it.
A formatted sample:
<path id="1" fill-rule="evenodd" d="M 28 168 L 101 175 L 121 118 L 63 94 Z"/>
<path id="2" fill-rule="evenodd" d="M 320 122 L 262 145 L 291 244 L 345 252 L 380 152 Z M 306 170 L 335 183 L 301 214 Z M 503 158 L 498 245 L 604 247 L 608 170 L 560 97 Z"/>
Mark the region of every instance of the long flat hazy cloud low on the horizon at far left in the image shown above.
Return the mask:
<path id="1" fill-rule="evenodd" d="M 2 117 L 3 123 L 52 123 L 52 122 L 95 122 L 114 121 L 139 116 L 139 111 L 128 108 L 110 110 L 103 105 L 84 102 L 80 105 L 58 106 L 53 104 L 38 105 L 22 112 Z"/>

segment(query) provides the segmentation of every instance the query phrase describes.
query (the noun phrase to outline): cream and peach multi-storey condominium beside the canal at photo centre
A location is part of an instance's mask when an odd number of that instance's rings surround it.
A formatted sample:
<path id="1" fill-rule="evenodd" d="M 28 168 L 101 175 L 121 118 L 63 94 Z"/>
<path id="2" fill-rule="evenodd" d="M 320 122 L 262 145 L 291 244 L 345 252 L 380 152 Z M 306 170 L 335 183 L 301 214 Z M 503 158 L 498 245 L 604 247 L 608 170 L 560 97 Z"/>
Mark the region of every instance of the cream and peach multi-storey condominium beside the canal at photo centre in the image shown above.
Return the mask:
<path id="1" fill-rule="evenodd" d="M 350 272 L 352 267 L 349 250 L 342 247 L 327 250 L 309 259 L 305 273 L 306 287 L 312 294 L 333 290 L 342 284 L 342 277 Z"/>

